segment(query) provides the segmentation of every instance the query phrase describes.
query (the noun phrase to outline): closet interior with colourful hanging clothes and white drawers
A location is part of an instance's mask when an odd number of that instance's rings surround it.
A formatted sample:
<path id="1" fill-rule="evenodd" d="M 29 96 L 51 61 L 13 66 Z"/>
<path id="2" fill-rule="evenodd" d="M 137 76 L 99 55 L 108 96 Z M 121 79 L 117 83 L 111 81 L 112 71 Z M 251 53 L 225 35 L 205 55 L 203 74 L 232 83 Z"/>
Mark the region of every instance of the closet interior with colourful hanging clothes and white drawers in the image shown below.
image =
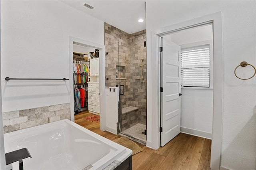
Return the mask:
<path id="1" fill-rule="evenodd" d="M 73 44 L 74 111 L 100 113 L 98 49 Z"/>

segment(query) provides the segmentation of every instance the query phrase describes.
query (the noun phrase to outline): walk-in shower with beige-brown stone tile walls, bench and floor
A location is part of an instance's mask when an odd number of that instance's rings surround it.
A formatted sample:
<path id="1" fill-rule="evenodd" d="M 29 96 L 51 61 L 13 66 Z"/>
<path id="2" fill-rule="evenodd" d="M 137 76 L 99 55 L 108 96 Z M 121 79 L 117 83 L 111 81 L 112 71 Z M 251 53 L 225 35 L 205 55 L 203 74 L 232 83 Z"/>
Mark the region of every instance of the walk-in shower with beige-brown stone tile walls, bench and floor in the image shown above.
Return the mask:
<path id="1" fill-rule="evenodd" d="M 124 85 L 121 132 L 146 142 L 146 30 L 128 34 L 105 23 L 106 87 Z"/>

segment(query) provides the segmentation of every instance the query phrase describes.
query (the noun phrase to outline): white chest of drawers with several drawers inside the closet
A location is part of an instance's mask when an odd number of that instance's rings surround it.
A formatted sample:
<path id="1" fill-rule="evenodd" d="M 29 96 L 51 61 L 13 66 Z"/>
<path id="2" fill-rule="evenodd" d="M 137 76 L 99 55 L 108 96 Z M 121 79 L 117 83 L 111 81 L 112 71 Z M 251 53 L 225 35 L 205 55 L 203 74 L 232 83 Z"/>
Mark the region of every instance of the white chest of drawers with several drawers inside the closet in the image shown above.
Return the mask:
<path id="1" fill-rule="evenodd" d="M 99 82 L 88 82 L 88 110 L 96 115 L 100 113 Z"/>

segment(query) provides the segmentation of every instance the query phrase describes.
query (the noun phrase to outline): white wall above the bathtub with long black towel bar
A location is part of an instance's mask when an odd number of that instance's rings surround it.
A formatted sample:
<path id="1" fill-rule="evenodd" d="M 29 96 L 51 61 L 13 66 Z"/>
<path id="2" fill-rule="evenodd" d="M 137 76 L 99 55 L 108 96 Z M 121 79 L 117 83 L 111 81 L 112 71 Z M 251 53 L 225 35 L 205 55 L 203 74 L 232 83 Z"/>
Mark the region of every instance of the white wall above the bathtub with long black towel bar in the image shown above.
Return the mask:
<path id="1" fill-rule="evenodd" d="M 69 37 L 104 45 L 104 22 L 59 1 L 2 1 L 3 112 L 70 103 Z"/>

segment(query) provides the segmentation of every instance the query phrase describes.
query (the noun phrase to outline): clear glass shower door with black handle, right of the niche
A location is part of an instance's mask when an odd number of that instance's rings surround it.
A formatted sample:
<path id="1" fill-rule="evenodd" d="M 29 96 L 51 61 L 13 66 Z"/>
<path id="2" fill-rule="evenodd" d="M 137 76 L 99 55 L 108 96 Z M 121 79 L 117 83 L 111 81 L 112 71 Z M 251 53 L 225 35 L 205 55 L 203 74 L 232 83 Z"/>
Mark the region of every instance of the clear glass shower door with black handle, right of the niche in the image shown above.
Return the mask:
<path id="1" fill-rule="evenodd" d="M 124 85 L 120 95 L 120 132 L 146 144 L 146 41 L 145 32 L 131 34 L 119 42 L 118 82 Z"/>

